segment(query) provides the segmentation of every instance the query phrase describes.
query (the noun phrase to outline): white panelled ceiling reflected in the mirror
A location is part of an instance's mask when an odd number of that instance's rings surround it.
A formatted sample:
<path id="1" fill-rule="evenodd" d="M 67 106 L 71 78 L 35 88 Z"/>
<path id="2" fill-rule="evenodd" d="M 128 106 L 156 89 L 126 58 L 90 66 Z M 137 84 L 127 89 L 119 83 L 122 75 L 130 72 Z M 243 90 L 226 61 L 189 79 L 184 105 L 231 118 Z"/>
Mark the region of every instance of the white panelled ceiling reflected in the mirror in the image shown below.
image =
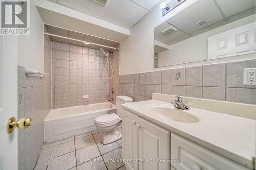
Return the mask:
<path id="1" fill-rule="evenodd" d="M 155 40 L 171 45 L 254 14 L 255 0 L 200 0 L 155 28 Z M 206 20 L 209 27 L 197 23 Z M 174 26 L 178 30 L 166 36 L 161 31 Z"/>

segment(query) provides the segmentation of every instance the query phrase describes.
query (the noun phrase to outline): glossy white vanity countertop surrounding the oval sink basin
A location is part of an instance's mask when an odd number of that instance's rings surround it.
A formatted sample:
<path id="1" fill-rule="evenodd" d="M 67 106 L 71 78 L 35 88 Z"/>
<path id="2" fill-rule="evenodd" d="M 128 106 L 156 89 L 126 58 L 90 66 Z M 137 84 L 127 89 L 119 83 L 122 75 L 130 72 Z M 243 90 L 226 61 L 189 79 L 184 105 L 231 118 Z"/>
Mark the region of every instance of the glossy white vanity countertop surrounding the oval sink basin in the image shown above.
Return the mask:
<path id="1" fill-rule="evenodd" d="M 256 152 L 255 120 L 190 108 L 185 112 L 198 117 L 199 123 L 181 123 L 148 113 L 145 106 L 152 104 L 166 104 L 168 107 L 173 107 L 170 103 L 157 100 L 126 103 L 123 106 L 124 109 L 150 120 L 150 122 L 193 140 L 247 167 L 253 167 L 253 157 Z"/>

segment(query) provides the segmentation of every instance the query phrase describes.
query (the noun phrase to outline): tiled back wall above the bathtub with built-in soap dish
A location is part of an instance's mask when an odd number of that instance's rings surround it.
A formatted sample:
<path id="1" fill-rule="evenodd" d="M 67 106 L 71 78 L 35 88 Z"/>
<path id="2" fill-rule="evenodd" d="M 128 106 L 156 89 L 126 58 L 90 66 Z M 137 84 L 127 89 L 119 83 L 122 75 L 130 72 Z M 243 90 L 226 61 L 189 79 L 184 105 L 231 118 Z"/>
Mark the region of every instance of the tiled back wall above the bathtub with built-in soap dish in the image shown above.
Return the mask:
<path id="1" fill-rule="evenodd" d="M 108 101 L 105 63 L 99 50 L 52 42 L 52 108 Z M 83 94 L 89 94 L 89 100 L 83 100 Z"/>

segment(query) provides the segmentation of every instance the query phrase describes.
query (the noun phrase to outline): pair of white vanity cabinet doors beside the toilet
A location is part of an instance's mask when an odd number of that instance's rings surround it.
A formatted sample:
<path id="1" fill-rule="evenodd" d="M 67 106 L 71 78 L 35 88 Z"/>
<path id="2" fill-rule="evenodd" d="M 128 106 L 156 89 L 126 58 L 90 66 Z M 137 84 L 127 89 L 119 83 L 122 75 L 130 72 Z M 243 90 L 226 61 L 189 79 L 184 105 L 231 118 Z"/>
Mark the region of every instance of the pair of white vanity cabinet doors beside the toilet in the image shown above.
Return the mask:
<path id="1" fill-rule="evenodd" d="M 170 132 L 126 110 L 123 111 L 122 121 L 123 159 L 140 160 L 138 163 L 126 162 L 126 168 L 170 169 L 169 163 L 153 162 L 170 159 Z"/>

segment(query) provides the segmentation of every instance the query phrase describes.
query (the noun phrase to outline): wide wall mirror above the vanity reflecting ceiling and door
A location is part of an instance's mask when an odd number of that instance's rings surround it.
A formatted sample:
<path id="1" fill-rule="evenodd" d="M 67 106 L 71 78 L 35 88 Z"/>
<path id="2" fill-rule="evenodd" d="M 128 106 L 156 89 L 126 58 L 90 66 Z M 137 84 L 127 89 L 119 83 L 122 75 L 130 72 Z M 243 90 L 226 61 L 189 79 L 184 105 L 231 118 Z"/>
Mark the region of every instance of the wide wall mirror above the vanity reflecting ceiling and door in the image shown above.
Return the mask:
<path id="1" fill-rule="evenodd" d="M 199 0 L 154 29 L 155 68 L 256 52 L 254 0 Z"/>

